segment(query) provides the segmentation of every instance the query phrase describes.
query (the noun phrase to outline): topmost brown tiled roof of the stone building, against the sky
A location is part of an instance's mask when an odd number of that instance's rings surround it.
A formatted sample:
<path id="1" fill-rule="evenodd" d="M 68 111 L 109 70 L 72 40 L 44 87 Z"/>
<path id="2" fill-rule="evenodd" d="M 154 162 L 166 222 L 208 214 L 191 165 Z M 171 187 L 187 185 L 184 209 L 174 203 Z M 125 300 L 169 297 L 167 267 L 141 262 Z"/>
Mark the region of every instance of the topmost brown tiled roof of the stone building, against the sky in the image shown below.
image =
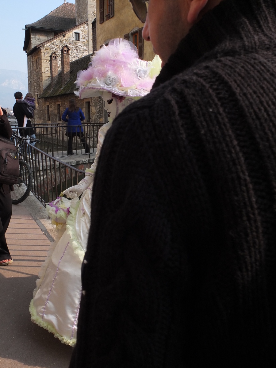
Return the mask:
<path id="1" fill-rule="evenodd" d="M 65 31 L 76 25 L 75 17 L 75 4 L 63 3 L 39 21 L 27 24 L 26 27 Z"/>

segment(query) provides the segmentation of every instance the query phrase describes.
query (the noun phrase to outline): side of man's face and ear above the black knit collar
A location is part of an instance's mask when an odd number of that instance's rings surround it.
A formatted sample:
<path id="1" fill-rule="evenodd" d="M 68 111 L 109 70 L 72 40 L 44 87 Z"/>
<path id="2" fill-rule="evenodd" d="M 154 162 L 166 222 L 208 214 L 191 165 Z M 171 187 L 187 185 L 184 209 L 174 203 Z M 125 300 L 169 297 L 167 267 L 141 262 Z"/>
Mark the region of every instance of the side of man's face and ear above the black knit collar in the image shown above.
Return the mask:
<path id="1" fill-rule="evenodd" d="M 222 0 L 149 0 L 143 37 L 166 63 L 202 15 Z"/>

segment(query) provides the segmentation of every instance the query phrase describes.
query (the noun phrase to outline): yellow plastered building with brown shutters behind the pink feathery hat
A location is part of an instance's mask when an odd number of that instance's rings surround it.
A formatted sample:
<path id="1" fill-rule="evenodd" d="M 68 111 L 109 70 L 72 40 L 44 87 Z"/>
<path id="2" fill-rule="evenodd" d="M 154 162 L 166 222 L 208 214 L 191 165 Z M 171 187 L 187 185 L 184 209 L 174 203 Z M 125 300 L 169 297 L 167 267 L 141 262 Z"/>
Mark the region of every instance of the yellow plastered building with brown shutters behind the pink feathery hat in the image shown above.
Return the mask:
<path id="1" fill-rule="evenodd" d="M 96 13 L 97 50 L 111 39 L 120 37 L 135 44 L 140 59 L 149 61 L 155 57 L 152 43 L 144 42 L 142 38 L 144 24 L 134 14 L 128 0 L 96 0 Z"/>

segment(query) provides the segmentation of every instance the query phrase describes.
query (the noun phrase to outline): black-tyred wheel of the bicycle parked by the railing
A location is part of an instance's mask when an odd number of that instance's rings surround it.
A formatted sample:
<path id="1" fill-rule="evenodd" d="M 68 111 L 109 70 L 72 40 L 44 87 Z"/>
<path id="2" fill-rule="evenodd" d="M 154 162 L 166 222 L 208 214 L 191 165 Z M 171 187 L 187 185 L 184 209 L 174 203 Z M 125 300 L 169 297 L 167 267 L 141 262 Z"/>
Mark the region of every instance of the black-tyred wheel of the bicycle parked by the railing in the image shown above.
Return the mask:
<path id="1" fill-rule="evenodd" d="M 14 205 L 25 201 L 32 188 L 33 176 L 31 167 L 25 161 L 19 159 L 19 168 L 18 183 L 14 185 L 14 190 L 11 192 L 11 202 Z"/>

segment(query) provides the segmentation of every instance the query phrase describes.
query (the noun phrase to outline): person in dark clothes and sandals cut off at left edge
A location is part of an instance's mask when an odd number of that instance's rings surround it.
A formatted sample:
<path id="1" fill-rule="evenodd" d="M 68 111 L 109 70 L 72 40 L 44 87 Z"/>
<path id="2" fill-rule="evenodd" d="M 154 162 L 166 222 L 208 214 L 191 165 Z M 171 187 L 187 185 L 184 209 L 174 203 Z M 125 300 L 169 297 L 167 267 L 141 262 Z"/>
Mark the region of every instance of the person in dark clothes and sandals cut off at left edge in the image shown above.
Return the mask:
<path id="1" fill-rule="evenodd" d="M 10 122 L 0 107 L 0 135 L 10 139 L 12 134 Z M 13 213 L 10 192 L 10 185 L 0 183 L 0 266 L 7 266 L 13 262 L 5 237 Z"/>

